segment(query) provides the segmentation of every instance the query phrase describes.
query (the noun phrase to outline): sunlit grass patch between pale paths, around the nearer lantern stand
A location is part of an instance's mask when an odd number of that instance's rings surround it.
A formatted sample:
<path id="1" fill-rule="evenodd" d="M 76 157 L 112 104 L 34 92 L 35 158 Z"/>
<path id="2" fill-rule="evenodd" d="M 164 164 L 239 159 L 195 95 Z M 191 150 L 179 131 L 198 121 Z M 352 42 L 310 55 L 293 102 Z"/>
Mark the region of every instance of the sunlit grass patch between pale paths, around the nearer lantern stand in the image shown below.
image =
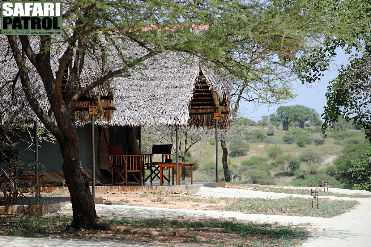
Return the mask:
<path id="1" fill-rule="evenodd" d="M 343 214 L 359 204 L 358 201 L 318 200 L 318 209 L 312 208 L 312 200 L 289 197 L 278 199 L 264 198 L 222 198 L 229 205 L 223 210 L 239 211 L 250 214 L 278 214 L 290 216 L 309 216 L 330 218 Z M 313 202 L 314 203 L 314 202 Z"/>

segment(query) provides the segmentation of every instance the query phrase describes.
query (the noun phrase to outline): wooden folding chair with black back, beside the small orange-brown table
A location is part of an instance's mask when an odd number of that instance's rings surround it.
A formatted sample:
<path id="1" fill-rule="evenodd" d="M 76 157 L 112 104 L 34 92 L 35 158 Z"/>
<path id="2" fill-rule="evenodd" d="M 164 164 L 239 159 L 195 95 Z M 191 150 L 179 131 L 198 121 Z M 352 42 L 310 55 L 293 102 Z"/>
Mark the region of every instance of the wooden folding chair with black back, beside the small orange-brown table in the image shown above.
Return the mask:
<path id="1" fill-rule="evenodd" d="M 171 144 L 154 144 L 152 145 L 152 152 L 151 154 L 143 154 L 143 164 L 144 170 L 150 172 L 148 176 L 145 178 L 145 173 L 143 173 L 143 182 L 146 182 L 150 179 L 152 182 L 156 177 L 160 179 L 160 167 L 157 166 L 158 163 L 164 163 L 165 160 L 171 159 L 172 151 Z M 162 160 L 161 161 L 153 161 L 154 154 L 161 154 Z M 167 181 L 170 181 L 170 170 L 168 174 L 168 178 L 165 177 Z"/>

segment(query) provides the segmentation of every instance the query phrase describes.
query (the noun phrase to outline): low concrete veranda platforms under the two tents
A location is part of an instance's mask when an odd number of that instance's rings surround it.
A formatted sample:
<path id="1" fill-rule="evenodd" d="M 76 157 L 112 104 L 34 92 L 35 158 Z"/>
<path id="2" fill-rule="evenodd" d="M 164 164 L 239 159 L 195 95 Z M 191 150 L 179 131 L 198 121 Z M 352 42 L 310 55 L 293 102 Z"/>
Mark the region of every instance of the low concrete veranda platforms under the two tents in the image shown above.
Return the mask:
<path id="1" fill-rule="evenodd" d="M 144 185 L 139 184 L 115 184 L 115 185 L 97 185 L 95 186 L 96 193 L 105 193 L 107 191 L 125 192 L 125 191 L 196 191 L 200 187 L 225 187 L 224 182 L 181 182 L 180 185 L 173 185 L 172 183 L 148 182 Z M 62 186 L 42 187 L 43 193 L 52 193 L 62 190 Z M 92 187 L 90 187 L 92 191 Z M 69 197 L 42 197 L 40 203 L 35 202 L 35 197 L 18 197 L 16 201 L 8 199 L 7 205 L 4 205 L 4 198 L 0 197 L 0 215 L 38 215 L 44 216 L 45 214 L 53 213 L 60 208 L 65 207 L 70 203 Z M 94 198 L 95 204 L 103 204 L 101 197 Z"/>

